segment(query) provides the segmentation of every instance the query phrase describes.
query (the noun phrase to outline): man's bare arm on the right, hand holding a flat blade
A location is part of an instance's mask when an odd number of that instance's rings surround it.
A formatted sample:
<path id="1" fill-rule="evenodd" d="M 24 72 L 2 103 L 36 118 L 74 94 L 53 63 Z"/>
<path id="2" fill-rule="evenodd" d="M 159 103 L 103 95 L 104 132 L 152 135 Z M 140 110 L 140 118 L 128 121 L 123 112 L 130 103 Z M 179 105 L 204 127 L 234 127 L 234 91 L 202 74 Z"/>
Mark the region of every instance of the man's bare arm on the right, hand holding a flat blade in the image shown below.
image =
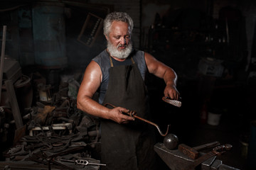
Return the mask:
<path id="1" fill-rule="evenodd" d="M 156 77 L 164 79 L 166 83 L 166 88 L 164 89 L 164 96 L 178 100 L 179 93 L 176 89 L 176 82 L 178 77 L 176 72 L 174 72 L 174 69 L 171 69 L 170 67 L 166 66 L 166 64 L 159 62 L 147 52 L 145 52 L 145 61 L 146 66 L 148 67 L 151 74 L 154 74 Z"/>

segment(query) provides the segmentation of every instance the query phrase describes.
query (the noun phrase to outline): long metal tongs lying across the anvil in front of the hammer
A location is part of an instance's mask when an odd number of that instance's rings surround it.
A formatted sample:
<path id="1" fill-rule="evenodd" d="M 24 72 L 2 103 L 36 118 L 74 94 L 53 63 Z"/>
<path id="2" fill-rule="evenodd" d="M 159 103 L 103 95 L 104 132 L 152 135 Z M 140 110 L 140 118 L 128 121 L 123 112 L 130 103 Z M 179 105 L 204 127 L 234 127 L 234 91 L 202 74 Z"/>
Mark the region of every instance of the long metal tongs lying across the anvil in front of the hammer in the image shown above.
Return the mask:
<path id="1" fill-rule="evenodd" d="M 199 157 L 193 163 L 186 166 L 183 170 L 194 170 L 194 169 L 196 169 L 196 166 L 198 166 L 202 162 L 205 162 L 210 157 L 213 157 L 215 155 L 221 155 L 225 152 L 225 150 L 230 150 L 231 148 L 232 148 L 232 145 L 230 145 L 230 144 L 225 144 L 225 145 L 220 145 L 218 147 L 214 147 L 212 151 Z"/>

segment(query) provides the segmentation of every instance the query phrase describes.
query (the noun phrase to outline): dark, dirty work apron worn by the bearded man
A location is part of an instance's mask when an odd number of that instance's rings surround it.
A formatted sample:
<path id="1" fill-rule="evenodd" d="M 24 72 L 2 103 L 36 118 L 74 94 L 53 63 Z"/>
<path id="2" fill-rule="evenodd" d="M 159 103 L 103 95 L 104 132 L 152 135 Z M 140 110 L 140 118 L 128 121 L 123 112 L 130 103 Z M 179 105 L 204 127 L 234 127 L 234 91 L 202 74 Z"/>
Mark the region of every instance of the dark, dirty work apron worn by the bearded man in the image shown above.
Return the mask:
<path id="1" fill-rule="evenodd" d="M 105 94 L 105 103 L 137 111 L 146 118 L 147 91 L 137 64 L 113 66 L 110 57 L 110 79 Z M 102 169 L 150 170 L 154 169 L 154 130 L 141 120 L 118 124 L 112 120 L 101 121 Z"/>

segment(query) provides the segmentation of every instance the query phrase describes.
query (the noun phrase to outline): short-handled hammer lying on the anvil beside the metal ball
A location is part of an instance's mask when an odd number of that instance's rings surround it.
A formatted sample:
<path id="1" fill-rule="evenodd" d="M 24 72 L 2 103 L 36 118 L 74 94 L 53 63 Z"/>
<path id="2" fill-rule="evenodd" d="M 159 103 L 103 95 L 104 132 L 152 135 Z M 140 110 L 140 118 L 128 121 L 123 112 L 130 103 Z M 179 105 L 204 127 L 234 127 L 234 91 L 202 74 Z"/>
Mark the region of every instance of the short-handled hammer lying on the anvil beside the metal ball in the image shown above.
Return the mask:
<path id="1" fill-rule="evenodd" d="M 191 159 L 197 159 L 199 156 L 199 152 L 202 149 L 208 149 L 210 147 L 216 147 L 220 145 L 220 142 L 211 142 L 205 145 L 200 145 L 198 147 L 188 147 L 185 144 L 178 145 L 178 150 L 186 154 L 186 156 L 190 157 Z"/>

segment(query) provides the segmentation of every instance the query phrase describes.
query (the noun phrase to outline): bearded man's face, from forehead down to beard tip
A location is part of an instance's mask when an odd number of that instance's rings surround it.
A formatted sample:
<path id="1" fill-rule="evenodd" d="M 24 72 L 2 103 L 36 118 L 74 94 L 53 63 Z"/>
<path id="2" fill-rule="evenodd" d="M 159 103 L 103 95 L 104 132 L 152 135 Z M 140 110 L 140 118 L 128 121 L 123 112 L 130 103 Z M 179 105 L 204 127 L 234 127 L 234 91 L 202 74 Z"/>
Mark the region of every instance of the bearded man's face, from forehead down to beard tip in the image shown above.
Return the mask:
<path id="1" fill-rule="evenodd" d="M 120 59 L 129 56 L 132 51 L 130 29 L 128 23 L 113 21 L 109 35 L 107 36 L 107 49 L 110 55 Z"/>

